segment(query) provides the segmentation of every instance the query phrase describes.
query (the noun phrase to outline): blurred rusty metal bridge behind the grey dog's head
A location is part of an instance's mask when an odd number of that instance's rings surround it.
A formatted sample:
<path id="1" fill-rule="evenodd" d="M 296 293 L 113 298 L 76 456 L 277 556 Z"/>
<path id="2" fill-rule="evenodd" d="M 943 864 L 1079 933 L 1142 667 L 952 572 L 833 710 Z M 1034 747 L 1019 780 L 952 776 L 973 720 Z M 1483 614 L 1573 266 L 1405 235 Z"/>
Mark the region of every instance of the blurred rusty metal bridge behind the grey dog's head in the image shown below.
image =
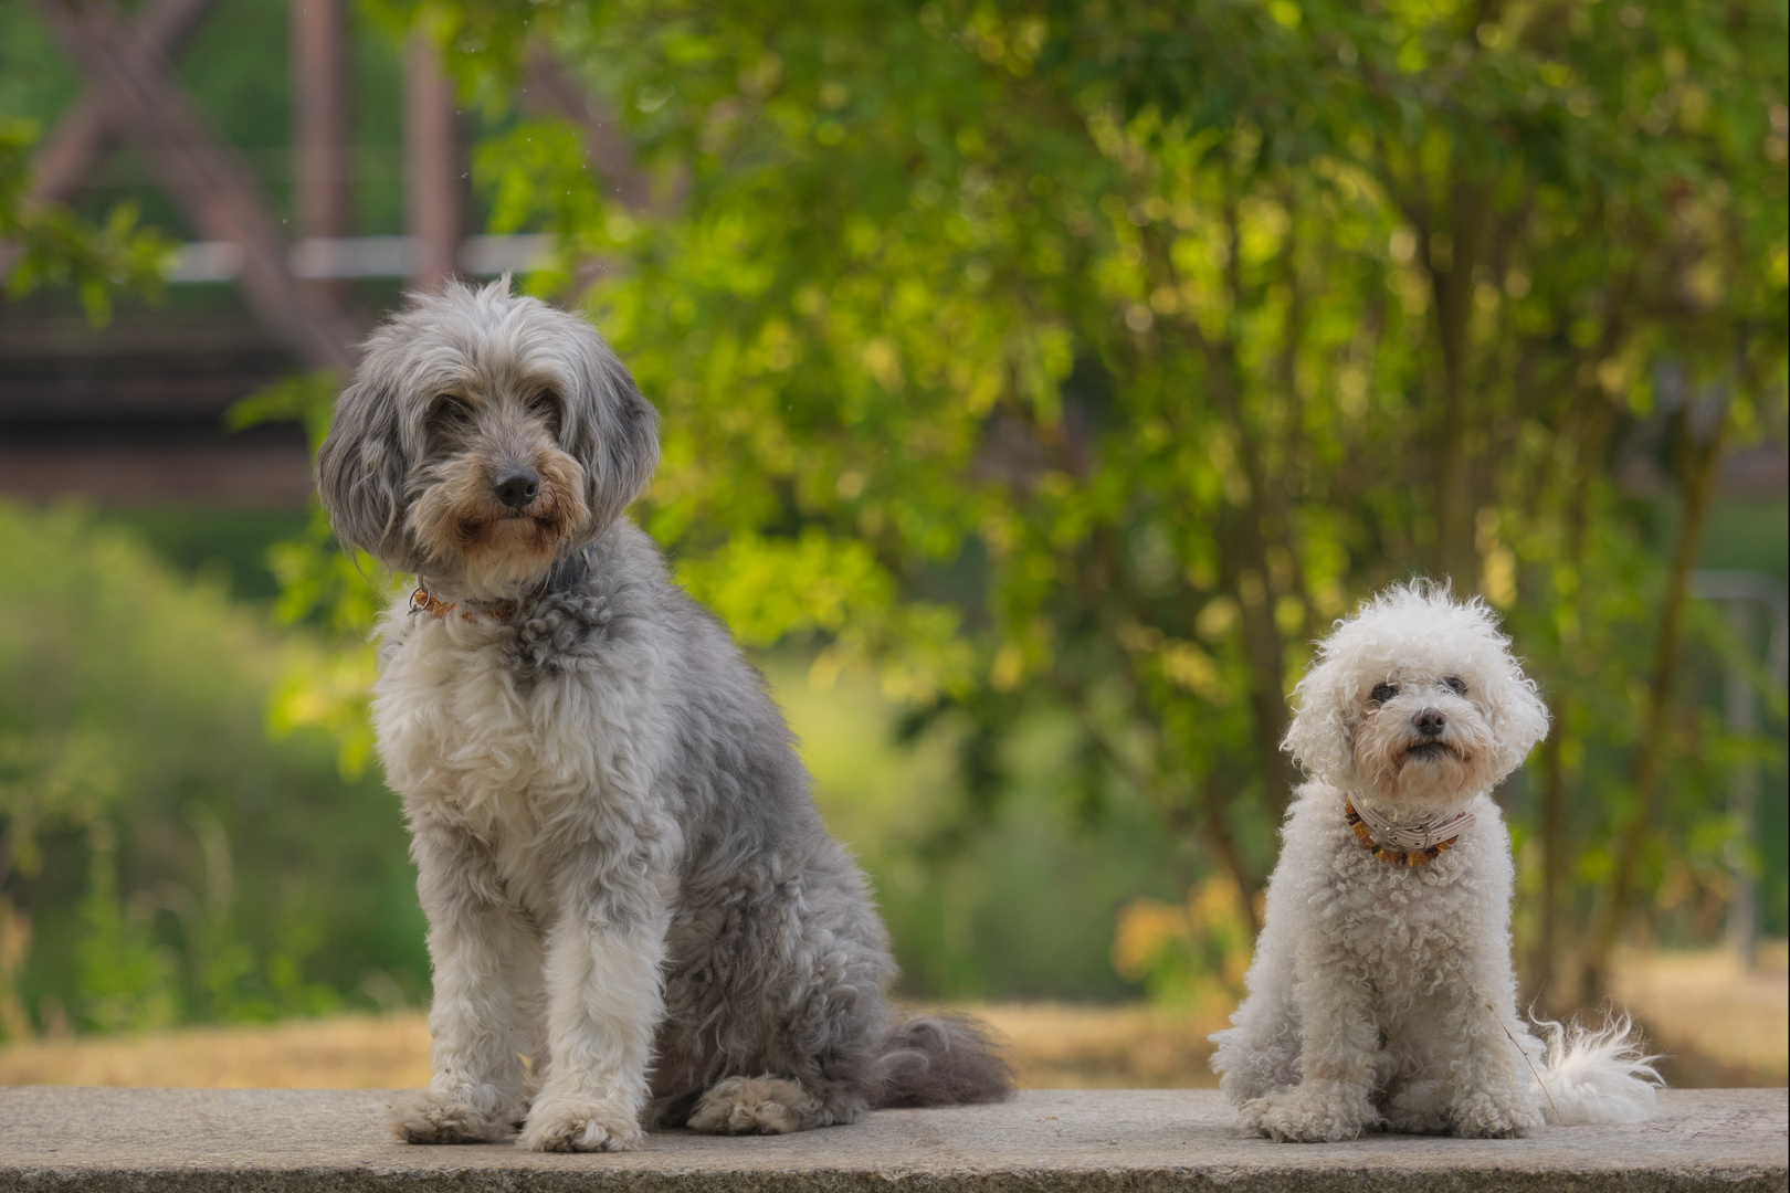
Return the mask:
<path id="1" fill-rule="evenodd" d="M 403 64 L 403 234 L 353 234 L 345 0 L 290 2 L 290 224 L 174 70 L 215 0 L 147 0 L 131 13 L 106 0 L 30 4 L 84 84 L 39 147 L 30 200 L 75 199 L 125 145 L 192 234 L 170 283 L 229 283 L 240 304 L 129 313 L 104 329 L 0 308 L 0 492 L 303 504 L 310 461 L 299 431 L 226 435 L 222 411 L 281 376 L 353 367 L 378 317 L 354 300 L 353 279 L 428 290 L 528 268 L 550 249 L 544 236 L 469 234 L 464 120 L 422 38 Z M 618 197 L 646 204 L 628 143 L 546 48 L 530 59 L 523 102 L 573 120 Z M 9 265 L 0 245 L 0 275 Z"/>

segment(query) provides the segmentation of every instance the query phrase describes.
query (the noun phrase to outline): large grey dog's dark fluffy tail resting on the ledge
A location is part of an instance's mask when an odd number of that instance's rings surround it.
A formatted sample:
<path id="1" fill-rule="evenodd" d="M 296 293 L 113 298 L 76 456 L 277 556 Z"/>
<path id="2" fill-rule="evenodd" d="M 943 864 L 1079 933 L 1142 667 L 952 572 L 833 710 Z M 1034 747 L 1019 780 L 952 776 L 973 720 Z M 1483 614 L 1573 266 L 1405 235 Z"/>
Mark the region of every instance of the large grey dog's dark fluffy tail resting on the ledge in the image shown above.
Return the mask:
<path id="1" fill-rule="evenodd" d="M 1013 1068 L 988 1025 L 967 1014 L 897 1021 L 877 1048 L 874 1109 L 1001 1102 L 1013 1093 Z"/>

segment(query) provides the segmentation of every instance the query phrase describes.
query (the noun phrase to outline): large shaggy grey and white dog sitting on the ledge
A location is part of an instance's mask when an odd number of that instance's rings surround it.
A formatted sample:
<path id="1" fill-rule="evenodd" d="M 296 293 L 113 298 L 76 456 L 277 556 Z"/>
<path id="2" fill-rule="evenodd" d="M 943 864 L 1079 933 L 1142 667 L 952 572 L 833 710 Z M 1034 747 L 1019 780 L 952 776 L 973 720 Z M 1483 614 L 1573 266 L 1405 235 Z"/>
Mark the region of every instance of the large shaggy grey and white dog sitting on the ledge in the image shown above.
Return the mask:
<path id="1" fill-rule="evenodd" d="M 763 678 L 623 517 L 657 458 L 596 329 L 508 279 L 413 297 L 337 401 L 331 526 L 421 581 L 372 701 L 435 966 L 397 1136 L 618 1150 L 1006 1096 L 974 1020 L 891 1016 Z"/>

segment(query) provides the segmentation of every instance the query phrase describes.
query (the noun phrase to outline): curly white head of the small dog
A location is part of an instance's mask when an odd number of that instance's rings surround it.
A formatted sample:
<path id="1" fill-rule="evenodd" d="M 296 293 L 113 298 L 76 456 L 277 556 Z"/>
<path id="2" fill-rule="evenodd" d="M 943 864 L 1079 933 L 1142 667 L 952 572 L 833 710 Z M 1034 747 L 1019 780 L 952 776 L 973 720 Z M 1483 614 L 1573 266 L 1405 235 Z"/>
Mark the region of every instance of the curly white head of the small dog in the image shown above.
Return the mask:
<path id="1" fill-rule="evenodd" d="M 1522 766 L 1548 732 L 1509 647 L 1479 597 L 1394 585 L 1317 646 L 1282 748 L 1400 819 L 1457 805 Z"/>

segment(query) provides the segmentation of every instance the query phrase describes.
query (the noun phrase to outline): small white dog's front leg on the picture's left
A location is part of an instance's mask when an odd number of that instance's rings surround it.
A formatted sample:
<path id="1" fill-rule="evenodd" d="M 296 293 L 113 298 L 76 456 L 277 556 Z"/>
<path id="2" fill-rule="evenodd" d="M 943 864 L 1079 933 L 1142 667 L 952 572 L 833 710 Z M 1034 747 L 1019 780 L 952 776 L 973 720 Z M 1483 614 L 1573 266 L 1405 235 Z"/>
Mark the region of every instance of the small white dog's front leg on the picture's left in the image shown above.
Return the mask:
<path id="1" fill-rule="evenodd" d="M 1380 1121 L 1373 1109 L 1380 1027 L 1373 987 L 1344 950 L 1301 941 L 1298 952 L 1300 1084 L 1246 1102 L 1244 1120 L 1291 1143 L 1355 1139 Z"/>

